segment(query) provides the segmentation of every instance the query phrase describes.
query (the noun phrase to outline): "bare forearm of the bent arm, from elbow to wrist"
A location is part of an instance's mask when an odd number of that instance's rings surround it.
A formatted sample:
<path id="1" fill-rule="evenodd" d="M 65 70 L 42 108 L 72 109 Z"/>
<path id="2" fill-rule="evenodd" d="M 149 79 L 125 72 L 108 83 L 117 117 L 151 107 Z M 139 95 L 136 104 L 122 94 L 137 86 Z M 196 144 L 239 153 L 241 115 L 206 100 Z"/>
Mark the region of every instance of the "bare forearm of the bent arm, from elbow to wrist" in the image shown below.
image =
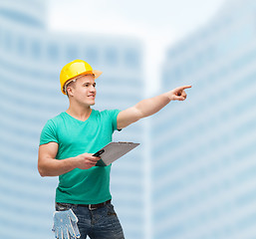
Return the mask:
<path id="1" fill-rule="evenodd" d="M 38 170 L 41 176 L 59 176 L 76 168 L 75 158 L 66 159 L 49 158 L 38 164 Z"/>

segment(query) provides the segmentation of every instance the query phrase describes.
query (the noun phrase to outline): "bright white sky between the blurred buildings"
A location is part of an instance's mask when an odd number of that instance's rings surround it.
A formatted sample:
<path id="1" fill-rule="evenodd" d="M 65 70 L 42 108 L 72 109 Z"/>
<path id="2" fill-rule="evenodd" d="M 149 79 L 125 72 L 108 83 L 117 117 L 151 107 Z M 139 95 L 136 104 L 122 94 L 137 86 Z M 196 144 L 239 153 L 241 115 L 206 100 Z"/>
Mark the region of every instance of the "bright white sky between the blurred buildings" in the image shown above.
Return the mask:
<path id="1" fill-rule="evenodd" d="M 48 27 L 53 31 L 135 37 L 145 46 L 145 81 L 159 79 L 157 69 L 167 47 L 203 27 L 226 0 L 51 0 Z M 153 67 L 154 70 L 151 70 Z M 148 70 L 150 69 L 150 71 Z M 146 92 L 155 88 L 148 85 Z M 157 90 L 156 90 L 157 91 Z"/>

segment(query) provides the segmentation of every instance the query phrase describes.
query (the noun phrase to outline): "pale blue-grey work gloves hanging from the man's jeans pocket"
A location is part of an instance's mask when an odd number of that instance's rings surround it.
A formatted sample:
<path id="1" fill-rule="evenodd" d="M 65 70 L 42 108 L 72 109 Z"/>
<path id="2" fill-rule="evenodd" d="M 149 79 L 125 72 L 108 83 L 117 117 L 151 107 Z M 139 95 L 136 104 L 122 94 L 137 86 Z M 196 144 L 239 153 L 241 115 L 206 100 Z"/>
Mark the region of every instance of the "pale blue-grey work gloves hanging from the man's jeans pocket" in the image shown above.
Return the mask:
<path id="1" fill-rule="evenodd" d="M 67 211 L 56 211 L 54 213 L 54 226 L 52 231 L 58 239 L 80 238 L 78 218 L 72 209 Z"/>

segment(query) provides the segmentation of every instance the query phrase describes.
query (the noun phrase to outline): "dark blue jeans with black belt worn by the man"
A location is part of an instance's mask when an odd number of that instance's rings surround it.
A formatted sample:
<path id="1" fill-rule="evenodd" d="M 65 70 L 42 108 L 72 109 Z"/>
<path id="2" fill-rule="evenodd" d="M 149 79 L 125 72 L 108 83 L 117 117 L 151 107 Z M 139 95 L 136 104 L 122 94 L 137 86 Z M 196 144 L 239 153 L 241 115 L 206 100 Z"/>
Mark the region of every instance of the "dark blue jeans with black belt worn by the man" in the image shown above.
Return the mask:
<path id="1" fill-rule="evenodd" d="M 78 227 L 80 230 L 80 239 L 86 239 L 89 236 L 91 239 L 125 239 L 124 232 L 114 210 L 112 203 L 108 203 L 103 207 L 95 210 L 89 210 L 88 207 L 62 203 L 56 204 L 56 210 L 69 210 L 73 212 L 79 219 Z"/>

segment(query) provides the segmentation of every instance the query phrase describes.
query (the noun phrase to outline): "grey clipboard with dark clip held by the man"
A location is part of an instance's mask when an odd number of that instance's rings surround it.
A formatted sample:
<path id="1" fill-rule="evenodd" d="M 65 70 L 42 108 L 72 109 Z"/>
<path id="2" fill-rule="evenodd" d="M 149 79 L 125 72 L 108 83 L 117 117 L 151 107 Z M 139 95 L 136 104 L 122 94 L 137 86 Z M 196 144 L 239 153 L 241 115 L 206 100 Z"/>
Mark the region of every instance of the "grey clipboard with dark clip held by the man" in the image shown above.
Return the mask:
<path id="1" fill-rule="evenodd" d="M 105 147 L 100 149 L 93 156 L 100 156 L 101 159 L 97 162 L 96 166 L 108 166 L 120 157 L 128 153 L 140 143 L 135 142 L 110 142 Z"/>

